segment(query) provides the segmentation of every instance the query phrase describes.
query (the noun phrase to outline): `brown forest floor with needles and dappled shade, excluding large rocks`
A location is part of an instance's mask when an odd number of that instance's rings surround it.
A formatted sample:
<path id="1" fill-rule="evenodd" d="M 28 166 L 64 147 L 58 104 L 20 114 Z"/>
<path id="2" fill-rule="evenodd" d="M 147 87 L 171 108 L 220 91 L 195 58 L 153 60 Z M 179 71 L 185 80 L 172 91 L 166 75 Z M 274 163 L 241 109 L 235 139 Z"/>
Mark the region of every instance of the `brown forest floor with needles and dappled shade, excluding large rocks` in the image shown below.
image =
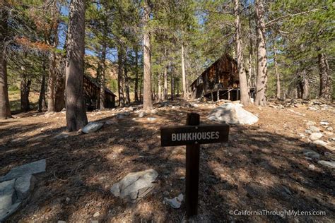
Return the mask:
<path id="1" fill-rule="evenodd" d="M 172 209 L 163 198 L 184 194 L 185 147 L 161 147 L 160 126 L 183 125 L 191 111 L 201 115 L 201 123 L 213 123 L 206 119 L 213 107 L 177 101 L 143 118 L 131 111 L 124 119 L 115 115 L 122 109 L 88 112 L 89 121 L 107 124 L 95 133 L 71 133 L 67 138 L 55 138 L 65 131 L 64 111 L 31 111 L 0 121 L 0 176 L 20 164 L 47 159 L 47 171 L 37 174 L 28 204 L 8 222 L 182 222 L 184 203 Z M 327 150 L 300 133 L 305 134 L 307 121 L 315 121 L 324 131 L 319 122 L 327 120 L 335 129 L 335 109 L 246 109 L 259 115 L 259 122 L 231 126 L 228 143 L 201 145 L 201 222 L 334 222 L 334 169 L 302 153 L 315 150 L 325 159 Z M 158 171 L 157 186 L 138 203 L 126 203 L 110 193 L 129 172 L 151 168 Z M 326 215 L 245 216 L 231 215 L 230 210 L 317 210 Z"/>

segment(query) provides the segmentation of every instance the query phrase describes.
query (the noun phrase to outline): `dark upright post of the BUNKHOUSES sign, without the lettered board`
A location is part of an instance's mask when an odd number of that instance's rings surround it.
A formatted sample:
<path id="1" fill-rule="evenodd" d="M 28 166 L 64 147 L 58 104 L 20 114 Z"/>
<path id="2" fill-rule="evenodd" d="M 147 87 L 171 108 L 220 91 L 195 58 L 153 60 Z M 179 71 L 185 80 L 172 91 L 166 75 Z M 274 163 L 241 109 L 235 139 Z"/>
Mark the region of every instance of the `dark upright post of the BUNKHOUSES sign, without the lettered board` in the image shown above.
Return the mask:
<path id="1" fill-rule="evenodd" d="M 200 116 L 196 113 L 187 114 L 187 125 L 199 126 Z M 188 217 L 198 213 L 198 191 L 199 191 L 199 162 L 200 162 L 200 145 L 186 146 L 186 188 L 185 203 L 186 215 Z"/>

